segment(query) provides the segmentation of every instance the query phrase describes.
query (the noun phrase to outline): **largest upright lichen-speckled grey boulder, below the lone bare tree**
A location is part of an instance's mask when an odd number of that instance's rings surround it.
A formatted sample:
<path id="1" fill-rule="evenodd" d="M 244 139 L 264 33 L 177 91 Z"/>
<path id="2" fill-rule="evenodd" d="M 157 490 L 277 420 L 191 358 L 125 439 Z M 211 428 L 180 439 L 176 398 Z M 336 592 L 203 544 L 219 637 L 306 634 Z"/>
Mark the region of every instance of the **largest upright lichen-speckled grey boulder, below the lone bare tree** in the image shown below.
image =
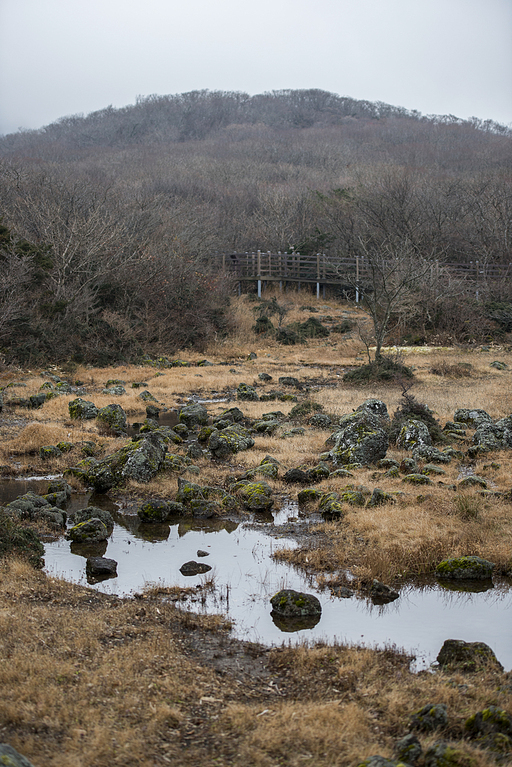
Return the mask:
<path id="1" fill-rule="evenodd" d="M 335 465 L 359 463 L 368 466 L 384 458 L 389 446 L 387 432 L 380 419 L 363 409 L 340 419 L 340 430 L 334 436 L 329 456 Z"/>

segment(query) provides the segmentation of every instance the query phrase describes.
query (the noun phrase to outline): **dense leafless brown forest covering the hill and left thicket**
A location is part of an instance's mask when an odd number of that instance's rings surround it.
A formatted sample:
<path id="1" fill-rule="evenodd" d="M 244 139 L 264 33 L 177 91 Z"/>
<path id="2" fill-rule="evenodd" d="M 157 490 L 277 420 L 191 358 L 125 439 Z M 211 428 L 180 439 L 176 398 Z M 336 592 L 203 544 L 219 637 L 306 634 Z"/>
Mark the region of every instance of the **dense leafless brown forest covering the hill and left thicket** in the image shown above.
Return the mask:
<path id="1" fill-rule="evenodd" d="M 407 243 L 506 266 L 511 239 L 512 130 L 492 121 L 321 90 L 139 98 L 0 138 L 0 347 L 23 363 L 200 348 L 229 330 L 216 252 Z M 510 330 L 510 284 L 437 298 L 415 331 Z"/>

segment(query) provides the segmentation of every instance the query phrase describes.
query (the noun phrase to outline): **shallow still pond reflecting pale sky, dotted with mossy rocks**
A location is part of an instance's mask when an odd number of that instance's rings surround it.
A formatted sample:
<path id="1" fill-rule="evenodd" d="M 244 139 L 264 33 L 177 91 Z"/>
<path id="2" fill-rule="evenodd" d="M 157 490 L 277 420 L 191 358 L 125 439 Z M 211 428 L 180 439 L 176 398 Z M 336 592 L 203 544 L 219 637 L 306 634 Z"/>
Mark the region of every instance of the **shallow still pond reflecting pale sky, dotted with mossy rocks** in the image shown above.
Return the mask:
<path id="1" fill-rule="evenodd" d="M 6 503 L 28 490 L 45 492 L 47 481 L 5 480 L 1 486 L 1 501 Z M 318 591 L 306 575 L 273 558 L 277 549 L 296 545 L 286 537 L 288 519 L 297 517 L 293 503 L 268 515 L 263 523 L 180 518 L 149 525 L 120 513 L 105 496 L 89 500 L 73 495 L 68 514 L 88 502 L 112 513 L 116 522 L 112 535 L 88 548 L 70 545 L 64 538 L 46 543 L 48 574 L 120 597 L 148 585 L 192 587 L 186 598 L 177 597 L 183 609 L 222 613 L 233 621 L 233 636 L 266 645 L 318 640 L 368 647 L 394 645 L 414 654 L 413 668 L 422 670 L 435 661 L 445 639 L 463 639 L 485 642 L 505 670 L 512 669 L 512 589 L 508 581 L 495 581 L 494 587 L 473 592 L 448 590 L 437 583 L 404 585 L 399 599 L 376 605 L 359 595 L 340 598 Z M 89 583 L 85 573 L 88 556 L 116 560 L 117 577 Z M 207 563 L 212 570 L 182 575 L 180 567 L 190 560 Z M 322 614 L 316 625 L 287 632 L 274 623 L 270 597 L 284 588 L 318 597 Z"/>

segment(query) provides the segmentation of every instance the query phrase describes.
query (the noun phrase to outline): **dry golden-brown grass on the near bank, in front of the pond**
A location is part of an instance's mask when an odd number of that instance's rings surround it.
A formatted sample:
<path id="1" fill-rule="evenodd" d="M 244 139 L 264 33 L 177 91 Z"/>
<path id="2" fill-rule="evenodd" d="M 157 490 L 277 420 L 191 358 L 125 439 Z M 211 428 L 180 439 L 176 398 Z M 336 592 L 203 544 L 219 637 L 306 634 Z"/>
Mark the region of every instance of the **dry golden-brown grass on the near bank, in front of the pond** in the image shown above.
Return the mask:
<path id="1" fill-rule="evenodd" d="M 449 723 L 420 734 L 423 748 L 441 737 L 473 767 L 493 764 L 464 721 L 507 706 L 496 674 L 415 675 L 394 649 L 244 647 L 168 596 L 119 600 L 4 562 L 2 740 L 45 767 L 345 767 L 392 757 L 411 714 L 436 702 Z"/>

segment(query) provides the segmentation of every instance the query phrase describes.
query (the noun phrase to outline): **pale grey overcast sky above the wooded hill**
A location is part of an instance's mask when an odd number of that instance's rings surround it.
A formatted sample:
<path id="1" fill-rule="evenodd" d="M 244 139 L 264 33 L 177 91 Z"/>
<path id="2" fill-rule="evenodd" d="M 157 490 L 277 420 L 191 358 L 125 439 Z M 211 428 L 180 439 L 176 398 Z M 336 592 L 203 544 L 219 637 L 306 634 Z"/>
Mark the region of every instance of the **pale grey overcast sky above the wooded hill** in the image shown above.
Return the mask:
<path id="1" fill-rule="evenodd" d="M 0 0 L 0 134 L 282 88 L 512 124 L 512 0 Z"/>

